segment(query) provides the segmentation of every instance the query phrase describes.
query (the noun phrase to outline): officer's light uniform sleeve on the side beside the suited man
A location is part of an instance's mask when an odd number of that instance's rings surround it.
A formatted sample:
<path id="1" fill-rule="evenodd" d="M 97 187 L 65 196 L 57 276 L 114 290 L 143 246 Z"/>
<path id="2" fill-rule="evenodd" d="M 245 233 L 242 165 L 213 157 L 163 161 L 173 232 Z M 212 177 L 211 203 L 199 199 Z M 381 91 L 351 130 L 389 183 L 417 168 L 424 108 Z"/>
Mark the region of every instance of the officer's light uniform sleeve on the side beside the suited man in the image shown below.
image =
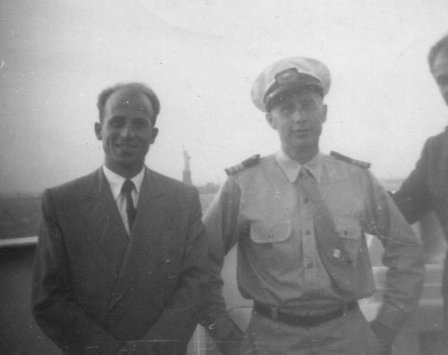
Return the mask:
<path id="1" fill-rule="evenodd" d="M 224 354 L 234 354 L 243 333 L 230 319 L 222 295 L 221 269 L 224 257 L 238 240 L 241 192 L 236 177 L 230 177 L 204 216 L 208 236 L 210 282 L 201 324 Z"/>

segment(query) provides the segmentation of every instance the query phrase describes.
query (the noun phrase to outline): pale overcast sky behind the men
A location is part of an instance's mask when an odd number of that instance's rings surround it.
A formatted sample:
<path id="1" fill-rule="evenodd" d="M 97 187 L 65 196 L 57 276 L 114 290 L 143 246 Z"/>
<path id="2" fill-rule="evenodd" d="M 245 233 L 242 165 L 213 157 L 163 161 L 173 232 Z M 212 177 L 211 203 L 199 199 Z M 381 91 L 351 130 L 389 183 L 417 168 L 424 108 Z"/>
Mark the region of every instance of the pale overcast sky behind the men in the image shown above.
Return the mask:
<path id="1" fill-rule="evenodd" d="M 147 164 L 180 179 L 184 147 L 196 184 L 222 182 L 279 148 L 250 87 L 295 55 L 332 73 L 322 151 L 404 177 L 448 123 L 426 61 L 447 31 L 446 0 L 0 0 L 0 193 L 100 166 L 96 96 L 130 80 L 162 104 Z"/>

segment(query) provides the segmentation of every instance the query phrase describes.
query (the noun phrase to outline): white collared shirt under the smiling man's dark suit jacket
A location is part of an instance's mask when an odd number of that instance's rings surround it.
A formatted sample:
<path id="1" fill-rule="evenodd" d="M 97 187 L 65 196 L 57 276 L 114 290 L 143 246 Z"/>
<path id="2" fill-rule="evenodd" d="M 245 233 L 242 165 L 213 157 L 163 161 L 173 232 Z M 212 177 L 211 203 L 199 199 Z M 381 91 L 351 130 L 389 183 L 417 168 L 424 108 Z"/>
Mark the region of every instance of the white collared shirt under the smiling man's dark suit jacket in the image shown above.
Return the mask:
<path id="1" fill-rule="evenodd" d="M 120 212 L 121 219 L 123 220 L 124 227 L 126 228 L 126 232 L 128 235 L 131 235 L 131 231 L 129 230 L 128 223 L 128 215 L 126 213 L 126 196 L 121 193 L 121 188 L 126 179 L 123 176 L 120 176 L 114 173 L 112 170 L 108 169 L 105 165 L 103 165 L 103 172 L 106 176 L 107 181 L 109 182 L 110 189 L 112 191 L 112 196 L 114 198 L 115 203 L 117 204 L 118 212 Z M 138 197 L 140 195 L 140 187 L 142 186 L 143 177 L 145 175 L 145 168 L 135 175 L 132 179 L 130 179 L 134 185 L 135 189 L 132 190 L 131 197 L 134 202 L 134 207 L 137 208 Z"/>

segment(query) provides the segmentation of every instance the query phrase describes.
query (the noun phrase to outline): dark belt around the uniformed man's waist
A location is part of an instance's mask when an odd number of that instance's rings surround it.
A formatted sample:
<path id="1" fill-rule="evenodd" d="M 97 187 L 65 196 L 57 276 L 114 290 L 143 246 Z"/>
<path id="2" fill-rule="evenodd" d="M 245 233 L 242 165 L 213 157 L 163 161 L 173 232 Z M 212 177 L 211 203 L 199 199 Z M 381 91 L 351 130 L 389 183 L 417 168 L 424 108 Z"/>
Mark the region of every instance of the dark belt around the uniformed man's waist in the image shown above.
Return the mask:
<path id="1" fill-rule="evenodd" d="M 334 311 L 318 315 L 296 315 L 278 311 L 276 307 L 265 306 L 260 303 L 254 304 L 254 311 L 264 317 L 275 321 L 283 322 L 297 327 L 315 327 L 319 324 L 328 322 L 332 319 L 342 317 L 352 309 L 358 306 L 358 302 L 353 301 L 345 304 Z"/>

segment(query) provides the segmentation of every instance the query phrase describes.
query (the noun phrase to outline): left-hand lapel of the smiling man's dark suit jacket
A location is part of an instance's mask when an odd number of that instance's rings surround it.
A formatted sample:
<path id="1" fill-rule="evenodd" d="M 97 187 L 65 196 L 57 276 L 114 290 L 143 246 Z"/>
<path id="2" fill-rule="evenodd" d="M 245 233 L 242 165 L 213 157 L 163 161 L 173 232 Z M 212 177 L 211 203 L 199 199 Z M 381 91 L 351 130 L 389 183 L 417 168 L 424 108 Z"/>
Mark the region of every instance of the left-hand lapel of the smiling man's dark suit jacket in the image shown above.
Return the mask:
<path id="1" fill-rule="evenodd" d="M 102 169 L 94 173 L 80 204 L 90 232 L 92 254 L 113 282 L 121 268 L 128 237 Z"/>

